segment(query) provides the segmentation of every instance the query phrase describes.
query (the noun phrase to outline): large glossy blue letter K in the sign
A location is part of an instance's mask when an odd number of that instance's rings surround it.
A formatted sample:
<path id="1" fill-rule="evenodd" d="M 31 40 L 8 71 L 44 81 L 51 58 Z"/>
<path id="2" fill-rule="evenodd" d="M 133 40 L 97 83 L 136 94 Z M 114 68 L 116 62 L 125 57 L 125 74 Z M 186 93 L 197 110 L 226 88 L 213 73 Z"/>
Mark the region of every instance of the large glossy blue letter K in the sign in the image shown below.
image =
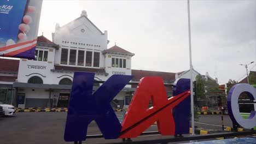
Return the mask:
<path id="1" fill-rule="evenodd" d="M 109 104 L 131 75 L 112 75 L 92 94 L 94 73 L 75 72 L 69 100 L 65 141 L 84 141 L 87 128 L 95 120 L 105 139 L 117 139 L 121 124 Z"/>

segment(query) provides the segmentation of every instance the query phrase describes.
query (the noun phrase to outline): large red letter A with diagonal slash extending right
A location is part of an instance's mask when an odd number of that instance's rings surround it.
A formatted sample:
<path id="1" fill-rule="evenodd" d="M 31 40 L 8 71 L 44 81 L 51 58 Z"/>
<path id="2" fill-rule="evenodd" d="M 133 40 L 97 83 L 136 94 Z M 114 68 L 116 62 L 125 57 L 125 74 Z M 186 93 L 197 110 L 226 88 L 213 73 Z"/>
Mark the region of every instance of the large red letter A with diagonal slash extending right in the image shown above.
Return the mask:
<path id="1" fill-rule="evenodd" d="M 144 77 L 133 95 L 119 138 L 137 137 L 154 122 L 158 123 L 161 135 L 174 135 L 175 123 L 172 109 L 189 94 L 187 91 L 167 99 L 161 77 Z M 153 107 L 148 108 L 150 99 Z"/>

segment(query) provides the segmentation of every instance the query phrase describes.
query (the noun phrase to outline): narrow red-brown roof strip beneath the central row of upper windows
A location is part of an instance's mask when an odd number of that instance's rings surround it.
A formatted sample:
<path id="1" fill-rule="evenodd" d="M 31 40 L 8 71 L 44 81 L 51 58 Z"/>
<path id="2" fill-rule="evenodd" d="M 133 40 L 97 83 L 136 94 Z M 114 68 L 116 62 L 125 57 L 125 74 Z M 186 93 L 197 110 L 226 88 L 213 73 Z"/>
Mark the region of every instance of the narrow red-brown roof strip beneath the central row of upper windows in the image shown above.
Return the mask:
<path id="1" fill-rule="evenodd" d="M 106 73 L 105 69 L 67 67 L 67 66 L 62 66 L 62 65 L 55 65 L 55 70 L 87 71 L 87 72 L 94 72 L 94 73 Z"/>

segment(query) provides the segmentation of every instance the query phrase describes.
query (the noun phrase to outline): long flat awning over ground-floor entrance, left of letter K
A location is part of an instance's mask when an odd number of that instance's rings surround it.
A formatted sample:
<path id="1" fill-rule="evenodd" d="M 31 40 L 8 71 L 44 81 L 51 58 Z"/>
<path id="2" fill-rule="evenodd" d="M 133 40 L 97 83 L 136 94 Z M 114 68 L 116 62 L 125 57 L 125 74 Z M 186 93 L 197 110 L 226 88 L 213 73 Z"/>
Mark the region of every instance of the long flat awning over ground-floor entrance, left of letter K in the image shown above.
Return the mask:
<path id="1" fill-rule="evenodd" d="M 13 87 L 29 87 L 29 88 L 51 88 L 51 89 L 71 89 L 71 85 L 55 85 L 55 84 L 38 84 L 14 82 Z"/>

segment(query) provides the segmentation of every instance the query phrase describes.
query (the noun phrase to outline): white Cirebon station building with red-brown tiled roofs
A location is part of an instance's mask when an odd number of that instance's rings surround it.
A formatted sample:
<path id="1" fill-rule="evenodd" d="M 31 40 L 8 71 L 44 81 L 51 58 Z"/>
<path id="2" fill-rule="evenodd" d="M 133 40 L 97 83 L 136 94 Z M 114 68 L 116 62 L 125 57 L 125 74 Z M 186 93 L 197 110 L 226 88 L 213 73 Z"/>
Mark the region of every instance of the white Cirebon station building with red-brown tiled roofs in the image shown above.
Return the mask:
<path id="1" fill-rule="evenodd" d="M 112 101 L 113 107 L 123 107 L 130 104 L 136 83 L 144 76 L 161 76 L 167 95 L 172 96 L 173 82 L 190 75 L 189 70 L 167 73 L 131 69 L 135 54 L 117 45 L 107 49 L 107 31 L 100 31 L 84 10 L 67 25 L 56 24 L 52 36 L 53 41 L 38 37 L 36 59 L 0 58 L 0 101 L 16 107 L 67 107 L 74 71 L 88 71 L 95 73 L 95 81 L 106 81 L 113 74 L 134 76 L 134 85 L 126 85 Z M 193 70 L 194 80 L 198 74 Z M 94 90 L 100 85 L 95 83 Z"/>

